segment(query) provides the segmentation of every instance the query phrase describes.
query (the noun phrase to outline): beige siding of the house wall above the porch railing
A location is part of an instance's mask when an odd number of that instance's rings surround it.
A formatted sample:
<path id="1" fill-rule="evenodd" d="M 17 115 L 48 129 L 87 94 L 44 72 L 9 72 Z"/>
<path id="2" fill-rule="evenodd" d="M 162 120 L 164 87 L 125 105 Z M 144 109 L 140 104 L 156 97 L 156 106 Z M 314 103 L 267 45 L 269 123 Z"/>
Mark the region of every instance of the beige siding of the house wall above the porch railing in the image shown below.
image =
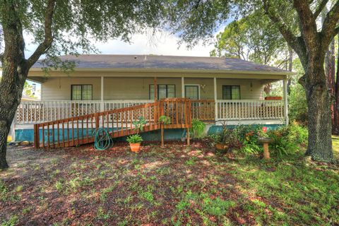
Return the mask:
<path id="1" fill-rule="evenodd" d="M 200 85 L 201 99 L 214 99 L 213 78 L 185 78 L 185 84 Z M 71 85 L 93 85 L 93 100 L 100 100 L 101 78 L 48 78 L 42 83 L 42 100 L 71 100 Z M 146 100 L 153 78 L 105 78 L 104 100 Z M 177 97 L 182 97 L 181 78 L 157 78 L 157 84 L 175 85 Z M 259 80 L 217 78 L 218 99 L 222 99 L 222 85 L 240 85 L 243 100 L 258 100 L 263 95 Z"/>

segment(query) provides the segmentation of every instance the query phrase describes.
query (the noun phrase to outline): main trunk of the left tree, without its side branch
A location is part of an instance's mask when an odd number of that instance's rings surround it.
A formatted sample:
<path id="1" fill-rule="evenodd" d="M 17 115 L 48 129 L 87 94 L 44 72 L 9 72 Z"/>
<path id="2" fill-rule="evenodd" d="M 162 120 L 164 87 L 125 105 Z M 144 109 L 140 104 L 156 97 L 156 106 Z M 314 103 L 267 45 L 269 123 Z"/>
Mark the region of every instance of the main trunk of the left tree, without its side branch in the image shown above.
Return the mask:
<path id="1" fill-rule="evenodd" d="M 25 61 L 23 28 L 13 2 L 5 4 L 10 13 L 1 18 L 4 32 L 4 54 L 1 56 L 2 77 L 0 81 L 0 168 L 6 169 L 7 136 L 23 93 L 28 75 Z"/>

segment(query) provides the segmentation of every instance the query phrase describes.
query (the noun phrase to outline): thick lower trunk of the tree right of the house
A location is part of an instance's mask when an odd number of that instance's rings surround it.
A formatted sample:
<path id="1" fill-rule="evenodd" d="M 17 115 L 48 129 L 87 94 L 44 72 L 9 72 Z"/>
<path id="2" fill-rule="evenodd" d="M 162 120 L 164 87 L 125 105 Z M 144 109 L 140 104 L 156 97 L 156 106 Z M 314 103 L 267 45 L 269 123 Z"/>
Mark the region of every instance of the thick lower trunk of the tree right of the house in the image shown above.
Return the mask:
<path id="1" fill-rule="evenodd" d="M 305 155 L 310 155 L 312 160 L 332 162 L 332 123 L 331 123 L 331 94 L 326 84 L 323 61 L 315 60 L 307 67 L 302 79 L 309 109 L 309 143 Z M 321 79 L 323 78 L 323 79 Z"/>

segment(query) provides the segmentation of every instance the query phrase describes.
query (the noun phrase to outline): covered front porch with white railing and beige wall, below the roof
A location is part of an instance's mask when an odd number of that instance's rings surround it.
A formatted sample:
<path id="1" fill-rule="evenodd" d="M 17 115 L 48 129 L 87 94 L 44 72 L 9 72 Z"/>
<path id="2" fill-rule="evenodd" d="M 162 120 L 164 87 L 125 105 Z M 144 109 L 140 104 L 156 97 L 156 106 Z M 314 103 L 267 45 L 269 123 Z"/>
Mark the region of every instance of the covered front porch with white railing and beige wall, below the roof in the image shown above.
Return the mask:
<path id="1" fill-rule="evenodd" d="M 42 78 L 35 79 L 43 81 Z M 189 97 L 191 99 L 192 118 L 213 124 L 220 124 L 222 121 L 226 121 L 227 124 L 285 124 L 288 121 L 286 77 L 282 79 L 283 100 L 264 100 L 263 84 L 279 80 L 264 79 L 262 76 L 242 79 L 225 78 L 225 76 L 221 78 L 192 78 L 191 76 L 112 78 L 100 76 L 88 78 L 52 77 L 44 78 L 44 80 L 42 100 L 21 102 L 16 113 L 16 125 L 30 125 L 142 105 L 162 97 L 169 97 L 171 92 L 172 96 L 170 97 Z M 90 93 L 92 100 L 62 100 L 74 97 L 73 90 L 70 92 L 74 83 L 91 84 L 93 86 Z M 171 84 L 174 87 L 172 91 L 159 90 L 166 84 Z M 239 95 L 239 99 L 240 97 L 246 99 L 223 100 L 225 95 L 226 97 L 228 95 L 228 90 L 225 93 L 225 86 L 227 88 L 239 87 L 239 94 L 236 93 L 236 95 Z M 164 93 L 167 93 L 167 96 L 163 96 Z M 126 98 L 114 100 L 114 98 L 123 96 Z M 141 99 L 146 96 L 148 99 Z M 59 97 L 61 100 L 53 100 L 53 97 Z M 131 97 L 134 98 L 131 99 Z M 18 128 L 18 126 L 16 127 Z"/>

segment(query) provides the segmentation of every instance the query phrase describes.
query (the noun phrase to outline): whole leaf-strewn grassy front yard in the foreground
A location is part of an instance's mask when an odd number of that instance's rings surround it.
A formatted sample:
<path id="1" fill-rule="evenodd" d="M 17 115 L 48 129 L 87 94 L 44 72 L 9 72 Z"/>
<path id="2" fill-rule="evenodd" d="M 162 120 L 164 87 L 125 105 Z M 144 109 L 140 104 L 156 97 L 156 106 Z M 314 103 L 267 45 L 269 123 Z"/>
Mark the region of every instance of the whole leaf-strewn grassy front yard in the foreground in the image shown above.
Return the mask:
<path id="1" fill-rule="evenodd" d="M 339 224 L 338 165 L 309 162 L 303 153 L 230 160 L 201 143 L 150 144 L 138 154 L 126 147 L 9 148 L 0 224 Z M 338 136 L 333 148 L 338 158 Z"/>

